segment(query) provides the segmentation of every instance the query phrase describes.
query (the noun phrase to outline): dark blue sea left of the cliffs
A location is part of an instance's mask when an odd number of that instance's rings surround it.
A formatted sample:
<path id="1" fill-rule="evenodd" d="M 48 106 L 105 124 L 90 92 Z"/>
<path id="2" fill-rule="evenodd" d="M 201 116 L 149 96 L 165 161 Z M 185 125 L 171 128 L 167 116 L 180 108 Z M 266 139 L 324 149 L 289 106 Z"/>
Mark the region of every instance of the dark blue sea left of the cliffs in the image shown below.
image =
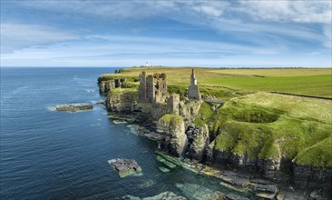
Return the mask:
<path id="1" fill-rule="evenodd" d="M 99 75 L 114 68 L 1 68 L 1 199 L 118 199 L 171 191 L 188 199 L 227 192 L 219 181 L 176 168 L 163 173 L 156 144 L 115 125 L 103 105 L 56 112 L 55 105 L 100 101 Z M 112 158 L 135 159 L 142 176 L 120 178 Z"/>

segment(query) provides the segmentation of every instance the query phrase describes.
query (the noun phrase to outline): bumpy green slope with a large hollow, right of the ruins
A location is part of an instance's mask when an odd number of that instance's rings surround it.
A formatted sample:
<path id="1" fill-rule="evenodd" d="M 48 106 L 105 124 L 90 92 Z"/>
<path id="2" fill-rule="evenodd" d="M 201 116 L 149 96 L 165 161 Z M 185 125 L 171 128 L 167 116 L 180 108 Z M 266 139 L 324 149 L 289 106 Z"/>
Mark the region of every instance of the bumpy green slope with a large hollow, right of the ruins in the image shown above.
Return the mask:
<path id="1" fill-rule="evenodd" d="M 237 102 L 234 104 L 233 102 Z M 332 167 L 332 101 L 256 93 L 218 110 L 216 148 L 252 158 Z"/>

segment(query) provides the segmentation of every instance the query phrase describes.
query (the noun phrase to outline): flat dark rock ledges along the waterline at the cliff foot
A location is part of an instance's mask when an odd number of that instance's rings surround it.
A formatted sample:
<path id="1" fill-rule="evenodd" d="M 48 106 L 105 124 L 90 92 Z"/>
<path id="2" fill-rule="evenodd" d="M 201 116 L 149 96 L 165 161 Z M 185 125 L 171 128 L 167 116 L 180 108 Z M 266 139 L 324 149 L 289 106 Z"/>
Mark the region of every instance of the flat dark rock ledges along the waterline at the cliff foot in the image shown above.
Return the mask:
<path id="1" fill-rule="evenodd" d="M 114 117 L 116 120 L 128 120 L 128 123 L 133 123 L 129 126 L 132 128 L 132 131 L 136 135 L 155 141 L 158 144 L 159 149 L 159 151 L 156 152 L 157 159 L 160 161 L 162 159 L 163 161 L 161 161 L 161 163 L 164 163 L 164 160 L 166 160 L 166 162 L 170 162 L 171 165 L 181 166 L 195 174 L 216 177 L 220 179 L 220 185 L 242 193 L 253 193 L 266 199 L 277 198 L 290 200 L 329 198 L 329 194 L 323 194 L 321 189 L 314 189 L 310 191 L 306 189 L 306 187 L 298 187 L 295 184 L 291 184 L 290 180 L 287 184 L 285 184 L 285 182 L 280 181 L 278 177 L 274 179 L 268 179 L 264 177 L 264 175 L 259 174 L 259 172 L 252 172 L 250 170 L 244 170 L 243 168 L 229 168 L 227 165 L 220 165 L 220 163 L 202 163 L 196 159 L 188 158 L 185 156 L 180 158 L 174 157 L 174 155 L 170 154 L 170 151 L 165 151 L 165 149 L 161 148 L 161 145 L 159 145 L 159 142 L 164 139 L 164 135 L 158 131 L 157 125 L 154 125 L 153 122 L 143 120 L 143 118 L 145 117 L 140 117 L 137 114 L 123 113 L 116 113 Z M 161 156 L 161 158 L 158 158 L 158 156 Z M 166 164 L 166 166 L 168 168 L 173 168 L 173 166 L 170 166 L 170 164 Z M 298 167 L 307 168 L 304 166 Z M 303 183 L 298 183 L 298 185 L 302 184 Z"/>

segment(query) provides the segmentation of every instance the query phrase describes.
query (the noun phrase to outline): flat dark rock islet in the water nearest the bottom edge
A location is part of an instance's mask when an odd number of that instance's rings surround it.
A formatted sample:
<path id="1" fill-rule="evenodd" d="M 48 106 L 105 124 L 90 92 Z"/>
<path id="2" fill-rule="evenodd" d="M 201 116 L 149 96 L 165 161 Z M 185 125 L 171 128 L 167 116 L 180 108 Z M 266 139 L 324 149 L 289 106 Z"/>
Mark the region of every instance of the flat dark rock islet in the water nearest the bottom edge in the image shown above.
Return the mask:
<path id="1" fill-rule="evenodd" d="M 114 167 L 120 177 L 140 174 L 142 172 L 141 166 L 135 160 L 118 158 L 109 160 L 108 163 Z"/>

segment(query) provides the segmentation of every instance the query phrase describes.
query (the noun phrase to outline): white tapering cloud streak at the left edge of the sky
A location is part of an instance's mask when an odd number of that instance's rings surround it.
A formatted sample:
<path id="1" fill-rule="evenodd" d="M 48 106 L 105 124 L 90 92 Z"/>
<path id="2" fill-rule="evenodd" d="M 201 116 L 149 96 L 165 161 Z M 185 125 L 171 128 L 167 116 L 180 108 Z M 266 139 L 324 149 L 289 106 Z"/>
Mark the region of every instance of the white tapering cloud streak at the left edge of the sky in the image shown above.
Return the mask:
<path id="1" fill-rule="evenodd" d="M 24 47 L 79 39 L 79 36 L 43 25 L 1 24 L 1 53 Z"/>

